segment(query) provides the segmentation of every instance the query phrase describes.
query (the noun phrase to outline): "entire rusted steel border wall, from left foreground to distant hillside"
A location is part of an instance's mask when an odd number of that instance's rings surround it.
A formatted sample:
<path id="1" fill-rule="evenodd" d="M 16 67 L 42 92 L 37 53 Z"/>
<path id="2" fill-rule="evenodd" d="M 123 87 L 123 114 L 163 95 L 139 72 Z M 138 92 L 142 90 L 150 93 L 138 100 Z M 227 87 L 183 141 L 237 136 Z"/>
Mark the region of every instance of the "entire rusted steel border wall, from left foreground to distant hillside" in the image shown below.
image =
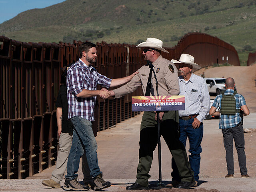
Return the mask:
<path id="1" fill-rule="evenodd" d="M 60 69 L 79 58 L 79 45 L 18 42 L 0 36 L 0 177 L 26 178 L 54 164 L 57 155 L 55 101 L 61 83 Z M 129 44 L 97 43 L 95 68 L 109 78 L 132 74 L 144 65 L 142 49 Z M 173 48 L 162 52 L 167 59 L 181 53 L 195 56 L 198 64 L 240 65 L 233 46 L 207 34 L 185 35 Z M 100 89 L 100 87 L 98 87 Z M 97 131 L 114 126 L 139 112 L 131 110 L 131 96 L 142 95 L 138 88 L 119 99 L 98 98 L 93 124 Z"/>

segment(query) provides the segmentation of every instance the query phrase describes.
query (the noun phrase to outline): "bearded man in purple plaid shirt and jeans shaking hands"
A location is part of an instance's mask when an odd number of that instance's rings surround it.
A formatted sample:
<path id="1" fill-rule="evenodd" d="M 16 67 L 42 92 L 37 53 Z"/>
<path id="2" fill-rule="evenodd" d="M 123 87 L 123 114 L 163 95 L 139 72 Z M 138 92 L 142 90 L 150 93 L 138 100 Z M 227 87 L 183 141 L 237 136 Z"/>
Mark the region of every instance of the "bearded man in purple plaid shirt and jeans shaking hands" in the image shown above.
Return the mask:
<path id="1" fill-rule="evenodd" d="M 97 144 L 92 132 L 94 106 L 96 97 L 107 99 L 110 93 L 106 89 L 97 90 L 97 84 L 106 88 L 129 82 L 138 72 L 118 79 L 110 79 L 98 73 L 91 65 L 96 62 L 96 45 L 85 42 L 80 46 L 80 59 L 67 72 L 68 118 L 74 125 L 73 142 L 68 156 L 67 175 L 64 190 L 88 190 L 77 181 L 80 157 L 86 152 L 91 175 L 94 177 L 94 187 L 107 188 L 111 185 L 102 178 L 98 166 Z"/>

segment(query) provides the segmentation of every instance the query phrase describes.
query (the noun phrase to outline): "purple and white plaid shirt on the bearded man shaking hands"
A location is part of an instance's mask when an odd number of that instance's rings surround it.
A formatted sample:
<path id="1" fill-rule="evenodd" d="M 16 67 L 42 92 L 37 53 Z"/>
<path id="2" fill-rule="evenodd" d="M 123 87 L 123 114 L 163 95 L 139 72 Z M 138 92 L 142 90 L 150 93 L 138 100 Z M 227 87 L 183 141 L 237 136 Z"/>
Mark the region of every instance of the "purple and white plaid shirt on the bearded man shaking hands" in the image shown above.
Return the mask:
<path id="1" fill-rule="evenodd" d="M 94 106 L 96 96 L 81 98 L 76 95 L 82 90 L 97 90 L 97 84 L 110 87 L 111 79 L 97 72 L 92 66 L 87 66 L 81 59 L 75 62 L 67 71 L 68 118 L 80 116 L 94 121 Z"/>

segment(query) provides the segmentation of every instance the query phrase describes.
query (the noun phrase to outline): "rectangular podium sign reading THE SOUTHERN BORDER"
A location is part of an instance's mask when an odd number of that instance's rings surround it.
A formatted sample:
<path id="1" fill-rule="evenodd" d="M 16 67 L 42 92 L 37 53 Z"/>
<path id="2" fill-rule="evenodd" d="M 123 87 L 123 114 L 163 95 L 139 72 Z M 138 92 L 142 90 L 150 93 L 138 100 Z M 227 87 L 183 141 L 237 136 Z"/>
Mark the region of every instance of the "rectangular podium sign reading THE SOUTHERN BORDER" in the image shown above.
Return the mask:
<path id="1" fill-rule="evenodd" d="M 134 96 L 132 111 L 185 110 L 185 96 Z"/>

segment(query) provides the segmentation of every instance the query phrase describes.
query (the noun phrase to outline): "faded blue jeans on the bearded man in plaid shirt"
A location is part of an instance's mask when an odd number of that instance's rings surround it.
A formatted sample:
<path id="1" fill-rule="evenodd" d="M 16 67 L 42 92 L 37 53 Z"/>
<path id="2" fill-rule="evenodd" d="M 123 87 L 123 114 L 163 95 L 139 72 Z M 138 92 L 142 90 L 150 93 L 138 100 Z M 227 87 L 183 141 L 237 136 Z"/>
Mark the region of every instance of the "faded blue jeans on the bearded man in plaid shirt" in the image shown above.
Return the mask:
<path id="1" fill-rule="evenodd" d="M 91 175 L 96 177 L 102 172 L 100 172 L 98 166 L 97 143 L 92 132 L 92 122 L 80 116 L 74 116 L 70 120 L 74 126 L 74 131 L 65 177 L 72 180 L 78 176 L 76 172 L 78 172 L 80 158 L 84 151 L 86 152 Z"/>

